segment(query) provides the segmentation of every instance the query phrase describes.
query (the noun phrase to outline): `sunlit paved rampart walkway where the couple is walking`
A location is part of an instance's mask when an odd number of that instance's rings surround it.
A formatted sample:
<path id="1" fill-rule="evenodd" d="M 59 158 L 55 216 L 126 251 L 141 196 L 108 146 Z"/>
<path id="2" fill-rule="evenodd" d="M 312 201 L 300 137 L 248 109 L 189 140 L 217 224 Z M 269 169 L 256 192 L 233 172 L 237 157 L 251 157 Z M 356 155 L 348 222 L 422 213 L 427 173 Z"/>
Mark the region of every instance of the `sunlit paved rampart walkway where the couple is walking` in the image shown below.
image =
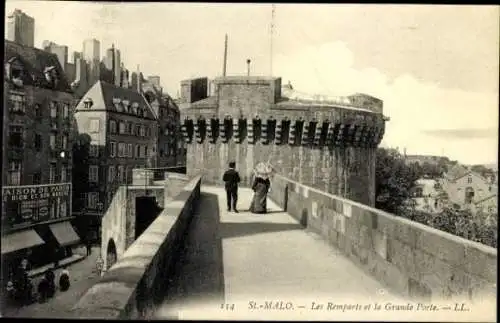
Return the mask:
<path id="1" fill-rule="evenodd" d="M 223 188 L 202 187 L 184 257 L 156 318 L 303 320 L 315 317 L 313 300 L 325 307 L 401 300 L 273 202 L 268 214 L 248 212 L 252 194 L 240 188 L 240 213 L 233 213 Z M 295 310 L 273 311 L 265 301 Z M 349 318 L 359 313 L 337 319 Z"/>

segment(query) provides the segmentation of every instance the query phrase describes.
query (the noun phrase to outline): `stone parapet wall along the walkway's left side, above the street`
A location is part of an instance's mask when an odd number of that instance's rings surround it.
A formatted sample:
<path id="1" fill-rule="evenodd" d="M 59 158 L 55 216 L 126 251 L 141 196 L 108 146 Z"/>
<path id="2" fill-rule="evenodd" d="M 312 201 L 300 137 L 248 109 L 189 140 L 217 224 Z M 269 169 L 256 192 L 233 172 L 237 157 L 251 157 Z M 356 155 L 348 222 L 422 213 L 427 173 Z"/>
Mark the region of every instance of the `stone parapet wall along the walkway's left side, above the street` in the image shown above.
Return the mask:
<path id="1" fill-rule="evenodd" d="M 193 178 L 123 257 L 67 313 L 72 318 L 148 319 L 161 301 L 172 265 L 200 198 Z"/>

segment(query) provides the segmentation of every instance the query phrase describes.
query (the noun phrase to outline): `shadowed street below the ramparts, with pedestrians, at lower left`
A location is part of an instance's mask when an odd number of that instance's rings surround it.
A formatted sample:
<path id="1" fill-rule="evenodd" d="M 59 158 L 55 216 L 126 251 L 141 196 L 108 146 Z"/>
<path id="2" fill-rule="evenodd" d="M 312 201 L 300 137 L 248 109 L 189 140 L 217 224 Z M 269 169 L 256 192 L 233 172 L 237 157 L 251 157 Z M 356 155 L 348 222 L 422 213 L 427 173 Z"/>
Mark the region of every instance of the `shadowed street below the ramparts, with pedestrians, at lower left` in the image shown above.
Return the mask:
<path id="1" fill-rule="evenodd" d="M 78 253 L 84 254 L 85 248 Z M 68 266 L 71 278 L 71 287 L 66 292 L 56 290 L 53 298 L 45 303 L 33 303 L 20 308 L 3 309 L 4 317 L 30 317 L 30 318 L 64 318 L 73 305 L 77 303 L 80 297 L 89 289 L 98 279 L 96 260 L 99 254 L 99 247 L 92 248 L 92 254 L 82 261 Z M 55 271 L 56 285 L 58 285 L 59 274 L 62 269 Z M 32 280 L 36 289 L 42 277 L 36 277 Z M 58 287 L 57 287 L 58 288 Z"/>

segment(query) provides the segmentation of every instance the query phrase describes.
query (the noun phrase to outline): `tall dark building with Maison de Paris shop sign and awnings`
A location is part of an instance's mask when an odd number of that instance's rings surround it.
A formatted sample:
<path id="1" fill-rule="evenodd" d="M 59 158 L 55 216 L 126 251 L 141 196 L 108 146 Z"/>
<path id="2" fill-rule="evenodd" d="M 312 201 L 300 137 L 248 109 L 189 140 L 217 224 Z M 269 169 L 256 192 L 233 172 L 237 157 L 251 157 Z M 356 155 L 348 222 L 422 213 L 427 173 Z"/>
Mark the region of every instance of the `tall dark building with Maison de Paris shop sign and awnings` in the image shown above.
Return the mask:
<path id="1" fill-rule="evenodd" d="M 69 223 L 73 94 L 55 54 L 7 40 L 4 76 L 2 260 L 51 261 L 79 239 Z"/>

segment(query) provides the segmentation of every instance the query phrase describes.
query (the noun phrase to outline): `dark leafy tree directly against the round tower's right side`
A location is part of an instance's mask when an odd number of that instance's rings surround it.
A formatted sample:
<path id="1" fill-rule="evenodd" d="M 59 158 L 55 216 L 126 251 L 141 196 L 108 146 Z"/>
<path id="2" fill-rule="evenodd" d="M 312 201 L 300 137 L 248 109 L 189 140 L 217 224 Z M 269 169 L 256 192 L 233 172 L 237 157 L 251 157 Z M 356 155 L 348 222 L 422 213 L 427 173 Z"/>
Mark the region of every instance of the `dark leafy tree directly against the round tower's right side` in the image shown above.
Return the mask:
<path id="1" fill-rule="evenodd" d="M 411 206 L 406 202 L 418 178 L 418 167 L 407 165 L 396 149 L 377 149 L 375 207 L 399 215 L 407 212 Z"/>

